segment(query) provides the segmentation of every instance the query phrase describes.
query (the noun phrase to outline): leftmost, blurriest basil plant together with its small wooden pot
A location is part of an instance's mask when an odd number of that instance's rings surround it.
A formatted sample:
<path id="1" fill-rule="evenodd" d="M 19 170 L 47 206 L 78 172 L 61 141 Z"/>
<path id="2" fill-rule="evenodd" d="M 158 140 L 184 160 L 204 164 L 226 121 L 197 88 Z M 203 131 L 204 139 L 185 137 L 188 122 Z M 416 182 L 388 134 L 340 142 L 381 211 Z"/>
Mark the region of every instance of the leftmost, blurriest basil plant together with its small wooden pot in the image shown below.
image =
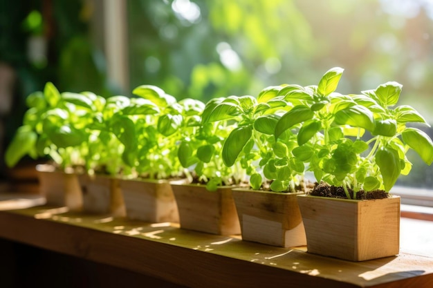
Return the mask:
<path id="1" fill-rule="evenodd" d="M 24 157 L 48 156 L 53 164 L 37 166 L 40 191 L 47 204 L 78 210 L 82 207 L 76 171 L 82 171 L 86 149 L 86 119 L 80 119 L 80 107 L 68 102 L 73 93 L 60 94 L 48 82 L 44 92 L 30 94 L 24 123 L 8 146 L 5 160 L 12 167 Z"/>

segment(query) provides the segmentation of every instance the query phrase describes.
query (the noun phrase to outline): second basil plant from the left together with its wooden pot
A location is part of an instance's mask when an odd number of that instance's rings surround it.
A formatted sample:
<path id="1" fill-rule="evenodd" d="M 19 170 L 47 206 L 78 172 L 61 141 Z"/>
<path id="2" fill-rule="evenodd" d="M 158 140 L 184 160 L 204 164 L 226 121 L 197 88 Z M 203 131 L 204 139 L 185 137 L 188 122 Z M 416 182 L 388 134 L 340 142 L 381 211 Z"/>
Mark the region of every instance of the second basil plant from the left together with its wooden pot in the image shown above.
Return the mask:
<path id="1" fill-rule="evenodd" d="M 129 174 L 128 149 L 133 142 L 126 141 L 132 124 L 119 116 L 119 111 L 131 108 L 131 99 L 116 95 L 104 99 L 93 93 L 81 93 L 77 104 L 87 109 L 91 122 L 86 151 L 86 173 L 80 175 L 83 191 L 83 209 L 88 213 L 125 216 L 125 202 L 120 189 L 120 175 Z M 126 144 L 125 144 L 126 143 Z"/>

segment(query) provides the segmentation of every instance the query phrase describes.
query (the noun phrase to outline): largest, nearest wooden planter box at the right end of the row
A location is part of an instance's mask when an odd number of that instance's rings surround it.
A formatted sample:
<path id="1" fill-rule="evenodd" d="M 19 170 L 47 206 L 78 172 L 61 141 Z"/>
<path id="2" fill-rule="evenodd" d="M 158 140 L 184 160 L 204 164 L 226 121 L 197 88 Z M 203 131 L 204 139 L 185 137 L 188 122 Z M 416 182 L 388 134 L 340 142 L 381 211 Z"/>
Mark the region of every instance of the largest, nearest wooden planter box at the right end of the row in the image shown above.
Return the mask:
<path id="1" fill-rule="evenodd" d="M 400 197 L 347 200 L 298 196 L 310 253 L 363 261 L 400 249 Z"/>

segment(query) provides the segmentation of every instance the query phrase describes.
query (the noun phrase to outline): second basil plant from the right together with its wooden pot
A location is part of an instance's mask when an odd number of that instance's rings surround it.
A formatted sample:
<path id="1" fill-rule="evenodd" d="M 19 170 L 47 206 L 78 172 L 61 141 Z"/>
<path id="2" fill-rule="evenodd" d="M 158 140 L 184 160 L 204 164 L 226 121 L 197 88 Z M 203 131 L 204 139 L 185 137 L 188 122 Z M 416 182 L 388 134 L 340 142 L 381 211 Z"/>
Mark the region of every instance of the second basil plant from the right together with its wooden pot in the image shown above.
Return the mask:
<path id="1" fill-rule="evenodd" d="M 284 101 L 295 85 L 270 86 L 257 99 L 228 97 L 216 104 L 204 121 L 236 123 L 223 142 L 225 166 L 241 164 L 250 188 L 233 189 L 242 239 L 280 247 L 306 244 L 296 195 L 305 193 L 304 162 L 292 155 L 296 136 L 286 131 L 274 136 L 281 115 L 292 104 Z"/>

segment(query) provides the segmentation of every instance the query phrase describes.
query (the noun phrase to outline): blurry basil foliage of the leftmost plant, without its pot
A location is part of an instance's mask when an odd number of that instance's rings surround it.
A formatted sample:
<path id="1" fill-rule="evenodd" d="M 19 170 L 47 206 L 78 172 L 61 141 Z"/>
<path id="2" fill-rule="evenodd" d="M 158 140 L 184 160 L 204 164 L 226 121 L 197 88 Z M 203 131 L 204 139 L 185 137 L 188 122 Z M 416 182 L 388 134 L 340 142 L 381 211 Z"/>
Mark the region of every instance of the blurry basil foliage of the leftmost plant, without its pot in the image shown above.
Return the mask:
<path id="1" fill-rule="evenodd" d="M 89 124 L 89 118 L 83 117 L 86 111 L 72 100 L 76 96 L 59 93 L 50 82 L 43 92 L 30 94 L 23 125 L 6 150 L 6 164 L 15 166 L 22 157 L 30 155 L 34 159 L 48 156 L 64 170 L 83 166 L 89 137 L 84 127 Z"/>

